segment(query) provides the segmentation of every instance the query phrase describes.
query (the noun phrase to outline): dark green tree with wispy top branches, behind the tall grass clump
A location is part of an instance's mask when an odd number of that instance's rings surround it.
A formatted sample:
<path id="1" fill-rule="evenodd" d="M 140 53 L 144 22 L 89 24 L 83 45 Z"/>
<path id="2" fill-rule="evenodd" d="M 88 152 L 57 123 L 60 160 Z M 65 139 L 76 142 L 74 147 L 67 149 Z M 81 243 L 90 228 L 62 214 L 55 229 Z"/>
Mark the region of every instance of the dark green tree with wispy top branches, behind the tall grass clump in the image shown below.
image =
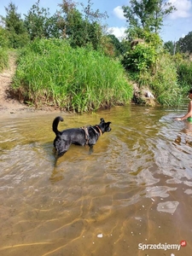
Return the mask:
<path id="1" fill-rule="evenodd" d="M 84 7 L 83 13 L 77 8 L 77 4 L 72 0 L 63 0 L 60 4 L 60 28 L 64 38 L 68 38 L 73 47 L 91 44 L 93 49 L 98 49 L 102 44 L 102 26 L 100 21 L 106 14 L 101 14 L 99 10 L 91 9 L 92 3 L 88 0 L 88 5 Z"/>

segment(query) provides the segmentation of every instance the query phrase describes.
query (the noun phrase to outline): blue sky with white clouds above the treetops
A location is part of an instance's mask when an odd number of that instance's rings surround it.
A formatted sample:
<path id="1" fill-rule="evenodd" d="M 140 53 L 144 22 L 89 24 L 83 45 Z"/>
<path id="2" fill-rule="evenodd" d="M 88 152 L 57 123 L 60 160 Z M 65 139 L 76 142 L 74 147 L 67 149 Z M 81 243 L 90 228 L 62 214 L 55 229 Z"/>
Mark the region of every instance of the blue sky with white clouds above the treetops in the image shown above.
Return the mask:
<path id="1" fill-rule="evenodd" d="M 0 0 L 0 15 L 5 16 L 4 7 L 8 7 L 10 2 L 15 3 L 18 8 L 17 12 L 23 15 L 27 14 L 28 10 L 32 8 L 32 4 L 38 2 L 38 0 Z M 73 2 L 78 2 L 78 0 Z M 177 41 L 192 31 L 192 0 L 167 0 L 167 2 L 172 3 L 177 11 L 166 17 L 160 37 L 164 42 Z M 60 9 L 58 7 L 59 3 L 62 3 L 62 0 L 40 0 L 40 6 L 49 8 L 51 15 L 55 14 L 56 9 Z M 84 3 L 86 6 L 88 1 L 79 0 L 79 3 Z M 91 3 L 93 3 L 92 9 L 99 9 L 102 13 L 105 11 L 108 13 L 109 17 L 106 23 L 110 32 L 117 38 L 122 38 L 127 24 L 121 7 L 122 5 L 129 5 L 129 0 L 91 0 Z"/>

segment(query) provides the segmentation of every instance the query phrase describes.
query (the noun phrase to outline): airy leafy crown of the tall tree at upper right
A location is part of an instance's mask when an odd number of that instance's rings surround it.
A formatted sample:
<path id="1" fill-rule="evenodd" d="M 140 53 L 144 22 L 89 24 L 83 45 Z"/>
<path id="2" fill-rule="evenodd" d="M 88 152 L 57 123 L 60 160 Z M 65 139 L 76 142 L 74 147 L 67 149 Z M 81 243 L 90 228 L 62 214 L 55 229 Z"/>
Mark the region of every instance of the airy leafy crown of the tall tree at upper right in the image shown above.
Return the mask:
<path id="1" fill-rule="evenodd" d="M 143 31 L 158 33 L 163 20 L 176 8 L 166 0 L 131 0 L 130 6 L 123 6 L 129 38 L 142 38 Z"/>

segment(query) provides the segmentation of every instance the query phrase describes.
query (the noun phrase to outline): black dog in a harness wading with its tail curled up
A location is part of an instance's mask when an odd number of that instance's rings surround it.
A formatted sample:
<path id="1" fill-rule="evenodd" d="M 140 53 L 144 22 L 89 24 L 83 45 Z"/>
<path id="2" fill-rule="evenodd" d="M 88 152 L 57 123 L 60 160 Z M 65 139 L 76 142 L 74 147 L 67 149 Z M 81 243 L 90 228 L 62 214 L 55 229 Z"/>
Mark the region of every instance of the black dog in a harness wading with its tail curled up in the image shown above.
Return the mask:
<path id="1" fill-rule="evenodd" d="M 106 123 L 101 119 L 99 125 L 87 126 L 82 128 L 71 128 L 64 131 L 58 131 L 57 126 L 60 121 L 63 121 L 61 116 L 58 116 L 53 121 L 53 131 L 55 132 L 54 147 L 58 156 L 65 154 L 71 144 L 84 146 L 88 144 L 90 148 L 96 144 L 98 138 L 104 132 L 111 131 L 109 125 L 111 122 Z"/>

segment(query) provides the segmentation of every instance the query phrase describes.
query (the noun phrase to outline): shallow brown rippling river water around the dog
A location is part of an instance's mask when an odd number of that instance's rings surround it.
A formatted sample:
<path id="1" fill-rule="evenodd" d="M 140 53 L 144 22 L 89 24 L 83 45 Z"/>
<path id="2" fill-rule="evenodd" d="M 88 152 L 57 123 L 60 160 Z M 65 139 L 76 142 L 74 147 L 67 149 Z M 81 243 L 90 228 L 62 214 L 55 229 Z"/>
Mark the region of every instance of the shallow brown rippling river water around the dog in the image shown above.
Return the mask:
<path id="1" fill-rule="evenodd" d="M 184 112 L 63 115 L 59 130 L 103 117 L 112 131 L 56 163 L 60 113 L 1 117 L 0 255 L 191 256 L 192 125 L 172 119 Z"/>

